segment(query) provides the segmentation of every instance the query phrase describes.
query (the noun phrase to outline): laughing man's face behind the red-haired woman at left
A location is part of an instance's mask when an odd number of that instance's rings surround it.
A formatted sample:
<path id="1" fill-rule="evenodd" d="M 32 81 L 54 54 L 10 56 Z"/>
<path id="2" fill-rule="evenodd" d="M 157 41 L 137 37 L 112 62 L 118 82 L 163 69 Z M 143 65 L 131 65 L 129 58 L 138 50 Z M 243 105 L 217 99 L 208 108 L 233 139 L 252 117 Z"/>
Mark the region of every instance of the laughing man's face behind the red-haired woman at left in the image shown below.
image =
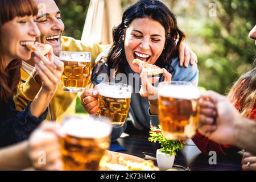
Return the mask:
<path id="1" fill-rule="evenodd" d="M 56 56 L 59 56 L 60 37 L 64 30 L 60 10 L 53 0 L 35 0 L 38 5 L 36 24 L 41 32 L 39 42 L 49 44 Z"/>

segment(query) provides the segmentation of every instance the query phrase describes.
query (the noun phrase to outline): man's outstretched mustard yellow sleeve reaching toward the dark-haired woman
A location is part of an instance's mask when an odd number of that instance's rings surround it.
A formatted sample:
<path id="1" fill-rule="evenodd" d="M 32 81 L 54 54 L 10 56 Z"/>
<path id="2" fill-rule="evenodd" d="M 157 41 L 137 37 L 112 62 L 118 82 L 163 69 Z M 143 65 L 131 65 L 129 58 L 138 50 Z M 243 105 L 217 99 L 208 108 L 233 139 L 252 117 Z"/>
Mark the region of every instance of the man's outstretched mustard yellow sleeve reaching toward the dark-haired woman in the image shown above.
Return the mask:
<path id="1" fill-rule="evenodd" d="M 94 61 L 96 60 L 97 56 L 106 48 L 110 47 L 110 45 L 102 45 L 97 43 L 82 43 L 81 40 L 76 40 L 67 36 L 61 36 L 61 46 L 62 51 L 90 52 L 92 55 L 92 65 L 94 65 Z"/>

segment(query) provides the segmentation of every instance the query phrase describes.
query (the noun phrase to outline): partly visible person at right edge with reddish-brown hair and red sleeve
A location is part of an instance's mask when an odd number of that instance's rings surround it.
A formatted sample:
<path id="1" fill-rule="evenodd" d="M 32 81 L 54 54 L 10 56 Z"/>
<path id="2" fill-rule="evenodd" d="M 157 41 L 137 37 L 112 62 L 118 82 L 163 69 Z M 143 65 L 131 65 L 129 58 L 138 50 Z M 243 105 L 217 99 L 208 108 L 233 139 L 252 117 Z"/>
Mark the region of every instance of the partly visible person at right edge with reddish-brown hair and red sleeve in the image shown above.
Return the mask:
<path id="1" fill-rule="evenodd" d="M 250 31 L 249 38 L 255 40 L 256 44 L 256 26 Z M 243 117 L 256 120 L 256 59 L 253 69 L 242 75 L 234 83 L 228 98 Z M 228 155 L 240 150 L 234 146 L 215 143 L 200 133 L 193 137 L 193 142 L 204 154 L 208 154 L 209 151 L 216 151 L 218 154 Z M 256 156 L 245 152 L 242 159 L 242 169 L 256 170 Z"/>

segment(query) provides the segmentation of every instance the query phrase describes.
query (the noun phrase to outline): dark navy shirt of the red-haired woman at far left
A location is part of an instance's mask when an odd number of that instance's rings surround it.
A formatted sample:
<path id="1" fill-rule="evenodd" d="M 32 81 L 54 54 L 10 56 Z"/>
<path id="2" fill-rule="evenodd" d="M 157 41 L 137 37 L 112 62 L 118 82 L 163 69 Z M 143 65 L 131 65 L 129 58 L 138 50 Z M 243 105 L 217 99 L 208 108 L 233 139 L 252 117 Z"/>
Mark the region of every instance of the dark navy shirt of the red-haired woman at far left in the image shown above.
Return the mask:
<path id="1" fill-rule="evenodd" d="M 1 87 L 0 87 L 1 88 Z M 46 119 L 48 109 L 36 118 L 30 113 L 30 104 L 23 111 L 15 109 L 14 101 L 0 104 L 0 147 L 27 139 L 31 132 Z"/>

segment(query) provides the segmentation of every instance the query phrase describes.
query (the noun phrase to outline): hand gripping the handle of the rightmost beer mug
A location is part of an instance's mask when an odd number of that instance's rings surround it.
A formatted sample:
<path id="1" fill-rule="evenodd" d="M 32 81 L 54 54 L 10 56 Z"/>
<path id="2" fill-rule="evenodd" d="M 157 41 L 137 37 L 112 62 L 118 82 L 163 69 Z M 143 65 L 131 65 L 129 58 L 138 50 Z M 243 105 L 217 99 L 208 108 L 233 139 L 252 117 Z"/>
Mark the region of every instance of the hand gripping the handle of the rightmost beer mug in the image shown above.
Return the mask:
<path id="1" fill-rule="evenodd" d="M 236 144 L 241 115 L 229 100 L 213 91 L 201 94 L 199 132 L 220 144 Z"/>

